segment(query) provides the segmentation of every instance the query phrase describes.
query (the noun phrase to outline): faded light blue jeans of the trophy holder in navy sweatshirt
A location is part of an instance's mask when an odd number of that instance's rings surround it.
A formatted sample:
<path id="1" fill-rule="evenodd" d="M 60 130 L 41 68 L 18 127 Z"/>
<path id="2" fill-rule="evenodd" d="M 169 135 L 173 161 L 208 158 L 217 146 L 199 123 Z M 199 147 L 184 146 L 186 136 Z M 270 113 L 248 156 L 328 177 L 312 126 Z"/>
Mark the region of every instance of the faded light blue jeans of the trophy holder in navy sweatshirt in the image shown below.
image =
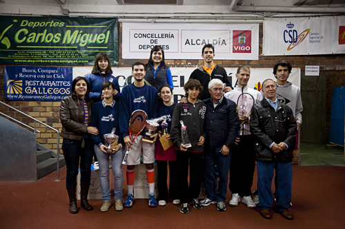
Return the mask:
<path id="1" fill-rule="evenodd" d="M 95 153 L 99 163 L 99 184 L 101 184 L 103 201 L 110 201 L 109 185 L 109 157 L 112 164 L 112 176 L 114 177 L 115 201 L 122 200 L 122 187 L 124 185 L 124 175 L 122 174 L 122 155 L 124 149 L 119 149 L 116 153 L 103 153 L 95 145 Z"/>

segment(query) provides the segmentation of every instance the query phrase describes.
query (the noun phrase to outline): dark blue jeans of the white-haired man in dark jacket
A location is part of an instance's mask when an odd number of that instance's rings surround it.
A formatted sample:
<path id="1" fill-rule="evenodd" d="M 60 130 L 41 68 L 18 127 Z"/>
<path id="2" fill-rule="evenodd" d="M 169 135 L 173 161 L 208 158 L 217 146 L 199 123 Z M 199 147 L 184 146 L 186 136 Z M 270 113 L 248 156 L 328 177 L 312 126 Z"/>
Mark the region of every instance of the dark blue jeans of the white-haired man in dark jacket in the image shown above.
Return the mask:
<path id="1" fill-rule="evenodd" d="M 206 146 L 205 147 L 205 175 L 204 184 L 208 199 L 215 201 L 226 200 L 226 190 L 228 188 L 228 174 L 231 161 L 231 149 L 228 155 L 221 152 L 222 146 Z M 215 191 L 215 164 L 219 174 L 218 190 Z"/>

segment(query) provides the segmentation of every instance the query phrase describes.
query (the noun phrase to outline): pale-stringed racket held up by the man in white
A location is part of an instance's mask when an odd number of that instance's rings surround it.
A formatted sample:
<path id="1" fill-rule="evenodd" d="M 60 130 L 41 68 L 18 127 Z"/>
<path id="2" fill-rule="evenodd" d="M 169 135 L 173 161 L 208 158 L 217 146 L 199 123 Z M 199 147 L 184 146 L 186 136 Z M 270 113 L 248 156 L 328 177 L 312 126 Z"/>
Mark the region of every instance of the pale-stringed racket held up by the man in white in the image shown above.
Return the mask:
<path id="1" fill-rule="evenodd" d="M 243 126 L 244 122 L 246 122 L 249 116 L 251 115 L 254 103 L 255 99 L 252 95 L 248 93 L 242 93 L 239 95 L 236 106 L 237 118 L 239 122 L 242 122 L 239 126 L 239 131 L 241 130 L 241 127 Z M 237 138 L 239 138 L 239 131 L 237 134 Z"/>

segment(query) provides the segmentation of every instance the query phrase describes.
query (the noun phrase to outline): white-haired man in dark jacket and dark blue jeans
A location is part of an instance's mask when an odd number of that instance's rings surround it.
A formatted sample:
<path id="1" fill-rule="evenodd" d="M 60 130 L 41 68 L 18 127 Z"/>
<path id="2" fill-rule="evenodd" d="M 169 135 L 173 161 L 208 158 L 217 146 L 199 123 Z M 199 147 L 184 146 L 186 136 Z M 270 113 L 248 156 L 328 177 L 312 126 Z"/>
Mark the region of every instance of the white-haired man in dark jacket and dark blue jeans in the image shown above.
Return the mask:
<path id="1" fill-rule="evenodd" d="M 219 79 L 210 80 L 208 91 L 211 98 L 204 100 L 205 116 L 205 175 L 204 184 L 207 197 L 200 202 L 202 206 L 217 203 L 217 210 L 226 210 L 226 190 L 231 151 L 237 137 L 239 124 L 235 102 L 223 96 L 223 82 Z M 215 192 L 215 164 L 219 174 L 218 190 Z"/>

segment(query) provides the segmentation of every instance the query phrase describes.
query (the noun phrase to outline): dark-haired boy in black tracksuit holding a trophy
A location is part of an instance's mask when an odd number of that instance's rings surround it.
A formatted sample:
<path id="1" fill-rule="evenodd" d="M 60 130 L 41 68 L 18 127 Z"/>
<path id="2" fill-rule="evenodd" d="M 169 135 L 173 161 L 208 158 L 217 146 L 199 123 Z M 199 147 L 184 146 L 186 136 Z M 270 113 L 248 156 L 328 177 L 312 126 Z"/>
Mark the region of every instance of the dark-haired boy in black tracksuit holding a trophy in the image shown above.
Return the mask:
<path id="1" fill-rule="evenodd" d="M 203 177 L 203 145 L 206 137 L 204 119 L 206 105 L 198 100 L 203 90 L 199 80 L 190 79 L 184 85 L 187 103 L 180 102 L 172 113 L 171 139 L 177 146 L 177 170 L 179 174 L 179 199 L 182 213 L 189 212 L 188 203 L 201 209 L 197 197 Z M 188 138 L 189 137 L 189 138 Z M 190 161 L 190 185 L 188 187 L 188 160 Z"/>

